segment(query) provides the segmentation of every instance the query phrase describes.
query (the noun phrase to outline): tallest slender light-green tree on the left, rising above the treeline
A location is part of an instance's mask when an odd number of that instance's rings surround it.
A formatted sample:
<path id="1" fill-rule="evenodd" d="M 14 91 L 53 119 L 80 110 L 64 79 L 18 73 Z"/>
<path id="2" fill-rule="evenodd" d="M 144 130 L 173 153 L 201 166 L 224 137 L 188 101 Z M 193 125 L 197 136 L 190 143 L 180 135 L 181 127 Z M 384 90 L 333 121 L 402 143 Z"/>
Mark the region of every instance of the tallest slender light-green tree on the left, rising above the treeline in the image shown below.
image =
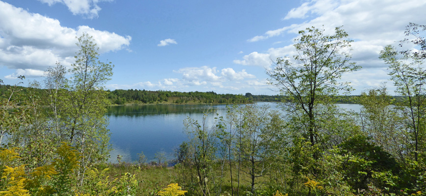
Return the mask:
<path id="1" fill-rule="evenodd" d="M 76 45 L 80 50 L 71 69 L 69 107 L 65 114 L 69 118 L 70 142 L 86 157 L 80 162 L 89 164 L 105 160 L 109 153 L 109 131 L 104 117 L 109 101 L 103 85 L 111 79 L 114 65 L 98 60 L 99 48 L 92 36 L 81 35 Z"/>

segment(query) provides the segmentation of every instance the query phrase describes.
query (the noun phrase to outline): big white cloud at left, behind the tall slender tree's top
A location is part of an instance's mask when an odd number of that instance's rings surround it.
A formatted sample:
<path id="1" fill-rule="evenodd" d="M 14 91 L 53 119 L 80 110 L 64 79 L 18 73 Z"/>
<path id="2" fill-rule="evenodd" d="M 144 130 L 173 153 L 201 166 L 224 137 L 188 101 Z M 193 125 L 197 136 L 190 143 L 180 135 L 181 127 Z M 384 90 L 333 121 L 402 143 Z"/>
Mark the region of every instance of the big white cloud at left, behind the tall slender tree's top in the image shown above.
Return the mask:
<path id="1" fill-rule="evenodd" d="M 58 20 L 2 1 L 0 8 L 0 66 L 16 70 L 9 77 L 22 73 L 18 69 L 44 71 L 56 61 L 64 66 L 71 65 L 78 50 L 76 37 L 83 32 L 93 36 L 100 53 L 124 49 L 132 40 L 130 36 L 89 26 L 77 29 L 61 26 Z"/>

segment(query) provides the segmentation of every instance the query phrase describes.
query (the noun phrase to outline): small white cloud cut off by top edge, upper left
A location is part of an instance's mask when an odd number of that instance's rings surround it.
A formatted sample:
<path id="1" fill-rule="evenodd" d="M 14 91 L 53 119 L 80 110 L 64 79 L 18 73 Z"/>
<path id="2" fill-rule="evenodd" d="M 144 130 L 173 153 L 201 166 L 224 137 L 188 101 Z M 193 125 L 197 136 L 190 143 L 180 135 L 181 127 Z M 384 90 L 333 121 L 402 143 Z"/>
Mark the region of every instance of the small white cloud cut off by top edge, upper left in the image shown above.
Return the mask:
<path id="1" fill-rule="evenodd" d="M 98 3 L 101 1 L 112 1 L 112 0 L 39 0 L 43 3 L 49 4 L 49 6 L 55 3 L 62 3 L 68 7 L 71 13 L 74 15 L 83 15 L 86 18 L 93 19 L 98 17 L 101 7 Z"/>

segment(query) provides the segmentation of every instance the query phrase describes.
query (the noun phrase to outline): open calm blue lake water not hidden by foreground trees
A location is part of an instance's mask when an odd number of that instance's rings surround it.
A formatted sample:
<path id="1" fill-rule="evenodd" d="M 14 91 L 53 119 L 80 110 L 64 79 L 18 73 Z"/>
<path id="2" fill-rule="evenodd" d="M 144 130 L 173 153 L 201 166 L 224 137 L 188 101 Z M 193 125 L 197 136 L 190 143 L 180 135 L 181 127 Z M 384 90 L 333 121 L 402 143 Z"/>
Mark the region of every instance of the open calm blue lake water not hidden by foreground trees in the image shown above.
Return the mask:
<path id="1" fill-rule="evenodd" d="M 257 103 L 277 109 L 276 103 Z M 342 108 L 359 111 L 355 104 L 339 104 Z M 203 118 L 206 105 L 130 105 L 113 106 L 108 109 L 108 129 L 111 132 L 112 148 L 110 162 L 117 162 L 117 155 L 122 160 L 133 162 L 137 153 L 144 152 L 148 162 L 154 160 L 156 152 L 164 151 L 168 159 L 174 158 L 174 149 L 187 141 L 184 133 L 184 120 L 187 117 L 198 120 Z M 225 116 L 225 105 L 214 105 L 219 115 Z M 213 123 L 214 115 L 208 121 Z"/>

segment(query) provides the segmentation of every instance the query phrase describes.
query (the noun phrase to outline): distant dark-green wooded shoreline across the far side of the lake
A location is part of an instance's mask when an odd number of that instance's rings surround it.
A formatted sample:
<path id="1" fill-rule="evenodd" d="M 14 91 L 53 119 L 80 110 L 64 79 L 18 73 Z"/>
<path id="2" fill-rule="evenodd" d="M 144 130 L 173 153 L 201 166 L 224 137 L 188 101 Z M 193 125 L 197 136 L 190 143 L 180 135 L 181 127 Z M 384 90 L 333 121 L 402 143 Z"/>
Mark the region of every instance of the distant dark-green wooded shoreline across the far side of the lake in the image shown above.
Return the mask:
<path id="1" fill-rule="evenodd" d="M 12 88 L 11 85 L 0 84 L 0 98 L 5 99 L 8 96 L 7 89 Z M 36 92 L 37 95 L 42 96 L 46 93 L 46 89 L 34 89 L 31 87 L 16 86 L 16 89 L 21 91 L 21 94 L 29 94 L 29 92 Z M 113 90 L 105 91 L 111 106 L 115 105 L 147 105 L 147 104 L 173 104 L 173 105 L 196 105 L 196 104 L 244 104 L 254 102 L 289 102 L 287 96 L 282 95 L 253 95 L 246 93 L 245 95 L 234 94 L 217 94 L 211 92 L 177 92 L 177 91 L 147 91 L 147 90 Z M 360 95 L 352 96 L 335 96 L 332 99 L 336 103 L 346 104 L 360 104 Z M 402 96 L 390 96 L 394 102 L 402 102 Z M 18 101 L 24 104 L 24 97 L 18 98 Z"/>

